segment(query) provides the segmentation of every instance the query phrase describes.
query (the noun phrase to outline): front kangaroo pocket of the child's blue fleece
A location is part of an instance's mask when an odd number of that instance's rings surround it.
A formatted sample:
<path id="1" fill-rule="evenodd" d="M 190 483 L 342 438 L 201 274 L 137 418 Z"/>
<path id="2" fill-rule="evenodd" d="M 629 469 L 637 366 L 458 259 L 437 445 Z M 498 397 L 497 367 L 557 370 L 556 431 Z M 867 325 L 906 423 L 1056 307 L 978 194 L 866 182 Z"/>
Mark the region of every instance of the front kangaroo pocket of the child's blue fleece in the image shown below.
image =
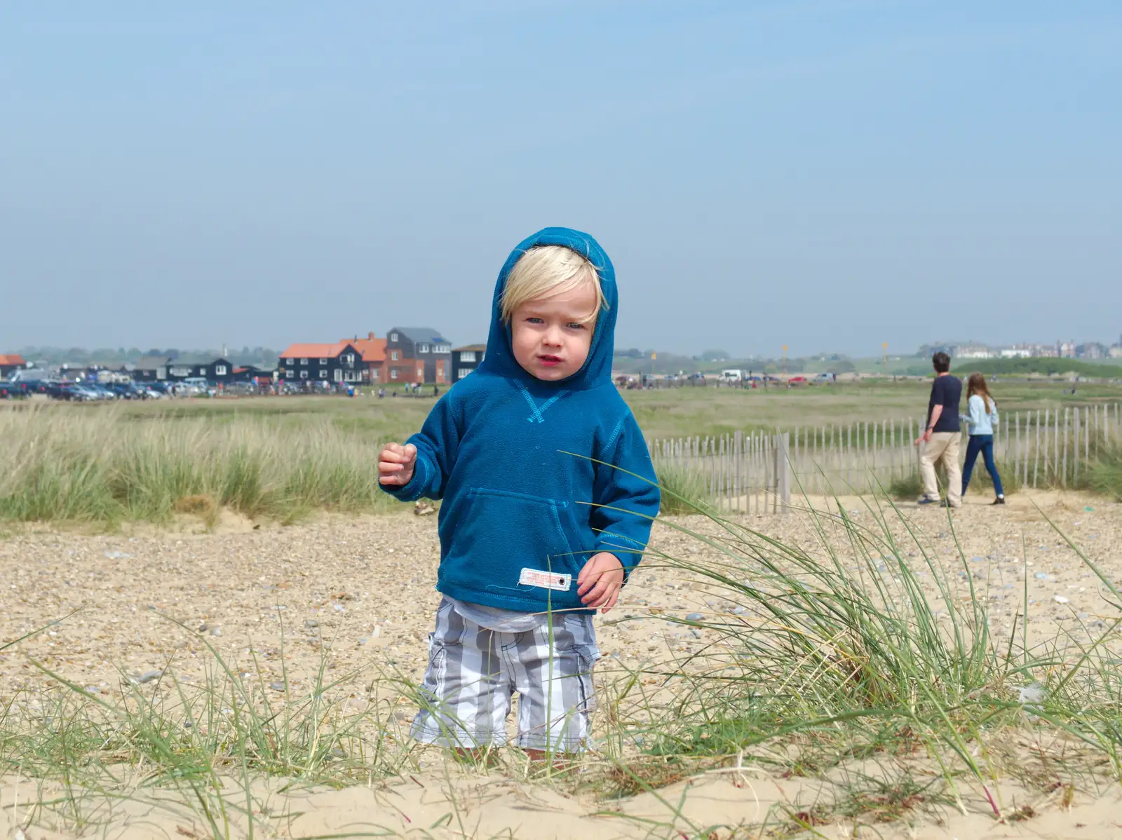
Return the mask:
<path id="1" fill-rule="evenodd" d="M 577 574 L 591 556 L 583 543 L 591 535 L 582 535 L 588 528 L 578 525 L 569 502 L 485 487 L 470 488 L 466 497 L 454 525 L 450 523 L 456 528 L 454 554 L 462 562 L 450 564 L 452 582 L 472 589 L 482 584 L 505 594 L 532 593 L 535 599 L 549 589 L 558 601 L 576 598 Z M 473 580 L 456 580 L 457 567 L 471 570 Z M 552 575 L 571 580 L 562 588 Z"/>

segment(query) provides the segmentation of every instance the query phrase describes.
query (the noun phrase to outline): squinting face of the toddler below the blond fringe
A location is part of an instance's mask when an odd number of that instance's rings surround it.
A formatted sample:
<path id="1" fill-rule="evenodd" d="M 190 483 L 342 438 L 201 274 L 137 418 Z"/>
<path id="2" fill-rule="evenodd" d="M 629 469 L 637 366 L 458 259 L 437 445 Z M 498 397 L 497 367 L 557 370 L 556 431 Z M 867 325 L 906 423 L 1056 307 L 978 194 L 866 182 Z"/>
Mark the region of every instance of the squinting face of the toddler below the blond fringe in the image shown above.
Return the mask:
<path id="1" fill-rule="evenodd" d="M 596 304 L 596 289 L 586 283 L 572 292 L 527 301 L 516 308 L 511 319 L 511 343 L 523 370 L 550 382 L 580 370 L 596 325 L 595 320 L 581 322 Z"/>

